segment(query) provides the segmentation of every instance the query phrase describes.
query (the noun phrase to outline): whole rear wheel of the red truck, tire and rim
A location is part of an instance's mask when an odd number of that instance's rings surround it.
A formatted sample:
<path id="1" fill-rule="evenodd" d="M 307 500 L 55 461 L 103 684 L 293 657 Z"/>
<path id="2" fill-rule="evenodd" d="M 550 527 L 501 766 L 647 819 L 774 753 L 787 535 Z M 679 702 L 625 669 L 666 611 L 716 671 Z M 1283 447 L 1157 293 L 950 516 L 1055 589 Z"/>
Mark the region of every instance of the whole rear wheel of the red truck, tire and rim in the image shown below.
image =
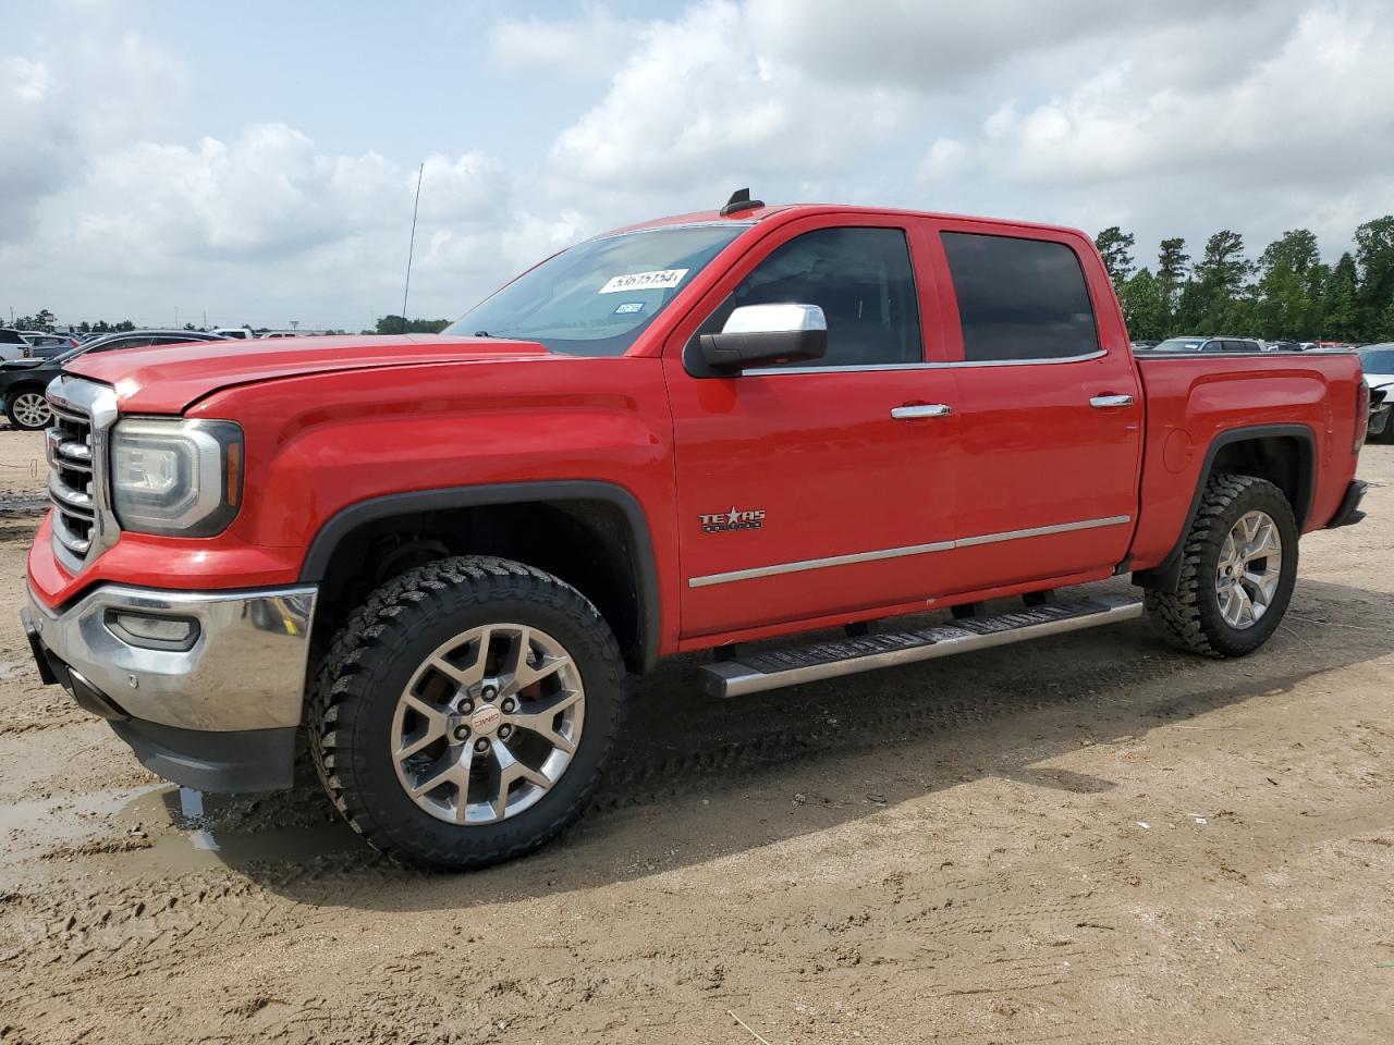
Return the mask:
<path id="1" fill-rule="evenodd" d="M 1243 656 L 1278 630 L 1296 574 L 1298 525 L 1282 490 L 1252 475 L 1214 475 L 1182 549 L 1177 591 L 1149 591 L 1146 606 L 1175 645 Z"/>

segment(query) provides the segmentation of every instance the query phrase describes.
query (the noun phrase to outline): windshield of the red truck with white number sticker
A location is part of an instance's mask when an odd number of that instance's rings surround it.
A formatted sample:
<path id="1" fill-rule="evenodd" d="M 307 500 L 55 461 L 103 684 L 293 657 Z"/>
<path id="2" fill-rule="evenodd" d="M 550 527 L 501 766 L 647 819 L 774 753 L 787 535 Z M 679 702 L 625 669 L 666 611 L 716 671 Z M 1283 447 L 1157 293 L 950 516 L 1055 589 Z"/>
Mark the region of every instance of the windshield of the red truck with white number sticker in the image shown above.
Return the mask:
<path id="1" fill-rule="evenodd" d="M 539 341 L 567 355 L 623 355 L 747 222 L 666 226 L 587 240 L 466 312 L 447 334 Z"/>

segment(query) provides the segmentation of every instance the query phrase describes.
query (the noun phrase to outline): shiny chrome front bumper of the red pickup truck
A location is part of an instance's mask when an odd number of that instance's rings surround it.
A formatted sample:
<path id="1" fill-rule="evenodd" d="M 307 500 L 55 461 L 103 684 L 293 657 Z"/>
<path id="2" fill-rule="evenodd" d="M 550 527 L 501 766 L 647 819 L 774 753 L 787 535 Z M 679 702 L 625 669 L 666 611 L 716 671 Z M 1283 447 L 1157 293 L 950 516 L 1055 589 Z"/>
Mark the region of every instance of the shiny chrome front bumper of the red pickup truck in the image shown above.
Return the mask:
<path id="1" fill-rule="evenodd" d="M 99 715 L 181 730 L 294 729 L 315 594 L 314 585 L 167 592 L 107 584 L 63 613 L 31 591 L 22 616 L 45 680 L 71 683 L 78 702 Z M 116 626 L 117 613 L 192 621 L 195 634 L 187 649 L 159 648 Z M 45 663 L 45 651 L 59 665 Z"/>

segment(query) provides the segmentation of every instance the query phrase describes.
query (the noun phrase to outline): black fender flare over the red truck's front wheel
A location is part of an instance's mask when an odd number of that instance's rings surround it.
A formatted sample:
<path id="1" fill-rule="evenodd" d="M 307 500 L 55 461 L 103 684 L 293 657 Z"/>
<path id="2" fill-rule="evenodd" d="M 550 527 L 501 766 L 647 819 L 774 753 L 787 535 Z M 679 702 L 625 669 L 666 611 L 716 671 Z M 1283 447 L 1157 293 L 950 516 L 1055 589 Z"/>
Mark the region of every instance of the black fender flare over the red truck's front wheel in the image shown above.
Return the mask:
<path id="1" fill-rule="evenodd" d="M 319 527 L 300 568 L 300 580 L 321 584 L 339 543 L 358 527 L 396 516 L 415 516 L 449 509 L 480 507 L 485 504 L 521 504 L 526 502 L 604 502 L 619 510 L 631 542 L 634 587 L 638 607 L 638 649 L 636 663 L 647 673 L 658 663 L 661 642 L 661 609 L 658 596 L 658 566 L 648 518 L 633 493 L 613 482 L 598 479 L 548 479 L 538 482 L 500 482 L 482 486 L 449 486 L 435 490 L 388 493 L 348 504 L 330 516 Z"/>

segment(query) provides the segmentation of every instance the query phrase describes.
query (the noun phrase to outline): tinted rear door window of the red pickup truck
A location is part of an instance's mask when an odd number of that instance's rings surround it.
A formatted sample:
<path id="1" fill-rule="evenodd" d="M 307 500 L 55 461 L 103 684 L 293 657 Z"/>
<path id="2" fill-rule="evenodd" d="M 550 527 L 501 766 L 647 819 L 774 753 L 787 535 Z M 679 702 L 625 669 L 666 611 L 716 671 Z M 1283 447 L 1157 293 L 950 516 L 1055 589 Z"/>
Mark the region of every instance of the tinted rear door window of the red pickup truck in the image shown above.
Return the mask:
<path id="1" fill-rule="evenodd" d="M 1062 242 L 944 233 L 969 361 L 1058 359 L 1098 350 L 1079 258 Z"/>

